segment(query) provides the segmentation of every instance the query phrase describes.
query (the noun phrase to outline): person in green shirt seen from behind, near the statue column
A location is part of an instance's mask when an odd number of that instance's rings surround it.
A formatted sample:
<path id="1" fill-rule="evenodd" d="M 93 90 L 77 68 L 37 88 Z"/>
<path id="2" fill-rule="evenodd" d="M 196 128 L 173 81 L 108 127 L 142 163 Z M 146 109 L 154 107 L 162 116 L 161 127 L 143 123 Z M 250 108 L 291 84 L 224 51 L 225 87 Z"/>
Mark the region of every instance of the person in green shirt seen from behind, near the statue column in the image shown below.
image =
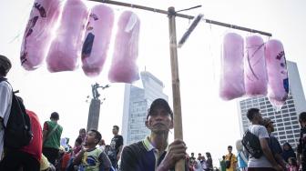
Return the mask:
<path id="1" fill-rule="evenodd" d="M 50 121 L 46 121 L 43 128 L 43 154 L 54 166 L 56 166 L 56 159 L 58 158 L 60 146 L 60 137 L 63 131 L 63 127 L 57 123 L 58 120 L 58 113 L 53 112 L 50 116 Z"/>

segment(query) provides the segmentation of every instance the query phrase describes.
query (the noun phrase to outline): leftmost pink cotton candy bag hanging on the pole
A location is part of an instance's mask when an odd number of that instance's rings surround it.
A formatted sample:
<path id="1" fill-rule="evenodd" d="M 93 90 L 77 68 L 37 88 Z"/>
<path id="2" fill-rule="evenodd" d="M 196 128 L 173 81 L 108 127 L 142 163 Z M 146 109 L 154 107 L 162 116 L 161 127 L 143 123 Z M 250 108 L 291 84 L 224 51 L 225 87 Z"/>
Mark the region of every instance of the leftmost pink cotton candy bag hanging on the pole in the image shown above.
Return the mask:
<path id="1" fill-rule="evenodd" d="M 60 12 L 60 0 L 34 2 L 20 52 L 21 65 L 26 70 L 34 70 L 43 63 Z"/>

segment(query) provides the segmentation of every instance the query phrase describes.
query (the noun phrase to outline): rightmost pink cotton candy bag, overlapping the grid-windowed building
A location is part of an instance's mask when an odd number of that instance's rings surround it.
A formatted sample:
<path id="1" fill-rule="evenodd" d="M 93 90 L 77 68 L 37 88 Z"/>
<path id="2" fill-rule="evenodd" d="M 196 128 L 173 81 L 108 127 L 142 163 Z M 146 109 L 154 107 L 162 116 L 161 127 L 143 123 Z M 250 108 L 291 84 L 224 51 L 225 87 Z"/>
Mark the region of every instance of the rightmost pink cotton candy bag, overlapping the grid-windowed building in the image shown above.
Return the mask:
<path id="1" fill-rule="evenodd" d="M 269 40 L 265 45 L 268 71 L 268 97 L 273 106 L 282 106 L 289 93 L 288 71 L 282 44 L 279 40 Z"/>

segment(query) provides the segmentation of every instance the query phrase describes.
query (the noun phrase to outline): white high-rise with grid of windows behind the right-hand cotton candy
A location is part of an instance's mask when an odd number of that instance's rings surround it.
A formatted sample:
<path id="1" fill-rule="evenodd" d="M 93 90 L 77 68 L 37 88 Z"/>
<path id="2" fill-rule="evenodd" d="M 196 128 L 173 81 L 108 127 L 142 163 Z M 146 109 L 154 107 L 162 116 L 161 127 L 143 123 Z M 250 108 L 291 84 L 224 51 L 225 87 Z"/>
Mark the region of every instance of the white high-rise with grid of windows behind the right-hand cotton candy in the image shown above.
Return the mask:
<path id="1" fill-rule="evenodd" d="M 275 122 L 273 135 L 279 139 L 280 145 L 289 142 L 292 147 L 297 146 L 300 138 L 299 114 L 306 111 L 306 101 L 296 63 L 287 61 L 287 69 L 290 94 L 280 109 L 274 108 L 268 97 L 252 97 L 238 101 L 241 136 L 250 126 L 246 116 L 248 109 L 256 107 L 260 108 L 262 117 L 270 117 Z"/>

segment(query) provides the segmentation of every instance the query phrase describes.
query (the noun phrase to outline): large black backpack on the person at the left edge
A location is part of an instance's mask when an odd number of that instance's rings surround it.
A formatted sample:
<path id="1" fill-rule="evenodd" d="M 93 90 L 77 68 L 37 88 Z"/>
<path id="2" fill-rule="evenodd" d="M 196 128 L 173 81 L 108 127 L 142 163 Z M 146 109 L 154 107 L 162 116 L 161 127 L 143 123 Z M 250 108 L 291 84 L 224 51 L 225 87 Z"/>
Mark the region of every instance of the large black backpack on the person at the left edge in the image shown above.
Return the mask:
<path id="1" fill-rule="evenodd" d="M 6 79 L 0 79 L 1 81 Z M 7 82 L 7 81 L 6 81 Z M 7 82 L 8 83 L 8 82 Z M 33 138 L 30 117 L 26 114 L 26 107 L 19 96 L 12 92 L 12 107 L 5 126 L 5 147 L 20 148 L 30 144 Z"/>

